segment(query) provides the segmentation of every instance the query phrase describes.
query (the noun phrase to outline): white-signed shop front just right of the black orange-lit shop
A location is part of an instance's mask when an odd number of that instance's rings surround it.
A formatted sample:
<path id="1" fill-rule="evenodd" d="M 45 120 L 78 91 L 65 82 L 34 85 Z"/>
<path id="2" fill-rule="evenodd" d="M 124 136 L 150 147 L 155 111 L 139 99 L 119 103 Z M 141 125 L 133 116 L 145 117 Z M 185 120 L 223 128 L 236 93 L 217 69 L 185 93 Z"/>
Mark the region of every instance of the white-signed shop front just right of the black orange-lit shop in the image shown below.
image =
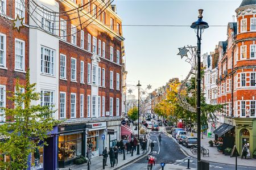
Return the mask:
<path id="1" fill-rule="evenodd" d="M 92 125 L 92 128 L 87 131 L 86 151 L 90 148 L 93 157 L 99 156 L 102 154 L 104 146 L 106 146 L 105 138 L 101 138 L 102 134 L 106 136 L 106 122 L 94 122 L 86 125 Z"/>

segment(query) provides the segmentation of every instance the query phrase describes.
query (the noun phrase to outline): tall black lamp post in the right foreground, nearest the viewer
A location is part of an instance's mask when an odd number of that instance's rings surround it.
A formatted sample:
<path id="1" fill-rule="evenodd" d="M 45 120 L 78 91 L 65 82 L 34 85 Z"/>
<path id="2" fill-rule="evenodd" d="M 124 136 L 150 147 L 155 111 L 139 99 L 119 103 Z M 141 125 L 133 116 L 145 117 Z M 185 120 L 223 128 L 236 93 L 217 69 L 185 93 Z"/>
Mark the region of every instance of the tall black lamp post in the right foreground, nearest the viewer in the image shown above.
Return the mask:
<path id="1" fill-rule="evenodd" d="M 190 26 L 197 33 L 197 170 L 200 170 L 201 165 L 201 34 L 204 32 L 204 29 L 209 27 L 207 22 L 203 22 L 203 11 L 201 9 L 199 10 L 198 20 Z"/>

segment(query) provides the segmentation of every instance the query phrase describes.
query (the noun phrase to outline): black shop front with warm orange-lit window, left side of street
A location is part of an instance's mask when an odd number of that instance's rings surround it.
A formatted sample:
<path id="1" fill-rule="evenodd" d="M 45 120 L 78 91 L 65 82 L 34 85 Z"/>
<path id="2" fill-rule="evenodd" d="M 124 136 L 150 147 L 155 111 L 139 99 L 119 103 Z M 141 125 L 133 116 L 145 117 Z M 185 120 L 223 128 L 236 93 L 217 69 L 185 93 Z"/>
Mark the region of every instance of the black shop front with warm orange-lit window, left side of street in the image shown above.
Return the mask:
<path id="1" fill-rule="evenodd" d="M 59 126 L 59 168 L 73 164 L 81 155 L 85 156 L 85 124 Z"/>

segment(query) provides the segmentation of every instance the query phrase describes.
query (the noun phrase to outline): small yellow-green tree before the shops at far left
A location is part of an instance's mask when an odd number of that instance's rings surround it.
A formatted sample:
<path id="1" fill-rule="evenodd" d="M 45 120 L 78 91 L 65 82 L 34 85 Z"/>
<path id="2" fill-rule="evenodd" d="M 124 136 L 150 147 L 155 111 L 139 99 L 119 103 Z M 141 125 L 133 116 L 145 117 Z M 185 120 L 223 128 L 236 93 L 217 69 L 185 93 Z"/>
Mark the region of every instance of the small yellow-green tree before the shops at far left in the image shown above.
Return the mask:
<path id="1" fill-rule="evenodd" d="M 35 85 L 30 84 L 27 70 L 26 84 L 23 86 L 17 80 L 15 92 L 7 92 L 7 100 L 13 101 L 15 108 L 1 108 L 5 112 L 6 122 L 10 123 L 0 126 L 1 135 L 6 137 L 4 142 L 0 142 L 0 151 L 10 156 L 11 162 L 5 163 L 0 158 L 0 169 L 26 169 L 28 156 L 47 146 L 44 141 L 47 133 L 60 122 L 52 117 L 55 113 L 52 105 L 32 105 L 32 100 L 40 99 L 40 94 L 35 92 Z"/>

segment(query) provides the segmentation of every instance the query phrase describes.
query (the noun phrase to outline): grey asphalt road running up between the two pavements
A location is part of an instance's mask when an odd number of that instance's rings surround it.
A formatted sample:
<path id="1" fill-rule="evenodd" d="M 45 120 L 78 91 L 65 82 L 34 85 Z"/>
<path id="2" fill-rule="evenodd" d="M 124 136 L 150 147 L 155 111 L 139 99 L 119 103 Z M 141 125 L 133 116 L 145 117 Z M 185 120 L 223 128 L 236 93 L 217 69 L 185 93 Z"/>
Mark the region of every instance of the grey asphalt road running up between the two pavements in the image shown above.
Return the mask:
<path id="1" fill-rule="evenodd" d="M 162 135 L 162 145 L 158 143 L 158 135 Z M 185 155 L 178 146 L 174 139 L 168 137 L 162 131 L 150 131 L 150 139 L 154 142 L 155 147 L 153 154 L 156 158 L 156 164 L 153 166 L 153 170 L 161 169 L 160 163 L 164 162 L 166 164 L 176 164 L 187 167 L 187 160 L 190 159 L 190 167 L 197 168 L 197 160 L 191 156 Z M 132 164 L 128 164 L 127 167 L 122 168 L 123 170 L 145 170 L 147 169 L 147 156 L 144 156 L 142 159 L 137 160 Z M 210 170 L 233 170 L 235 169 L 234 165 L 225 165 L 219 163 L 210 163 Z M 255 170 L 251 167 L 241 167 L 238 166 L 238 170 Z"/>

